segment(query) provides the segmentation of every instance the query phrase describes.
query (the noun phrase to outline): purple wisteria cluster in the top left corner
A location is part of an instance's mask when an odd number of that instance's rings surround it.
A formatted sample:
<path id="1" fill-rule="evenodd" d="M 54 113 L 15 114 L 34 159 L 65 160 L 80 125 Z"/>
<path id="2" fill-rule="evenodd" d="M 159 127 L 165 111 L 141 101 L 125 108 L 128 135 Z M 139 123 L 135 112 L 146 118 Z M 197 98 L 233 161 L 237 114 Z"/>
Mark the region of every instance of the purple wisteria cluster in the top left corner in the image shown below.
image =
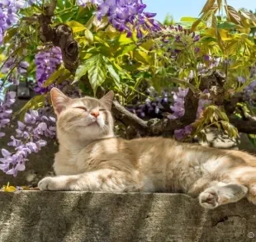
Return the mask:
<path id="1" fill-rule="evenodd" d="M 31 3 L 32 1 L 30 1 Z M 17 12 L 26 7 L 25 0 L 1 0 L 0 1 L 0 45 L 5 31 L 16 25 L 19 21 Z"/>

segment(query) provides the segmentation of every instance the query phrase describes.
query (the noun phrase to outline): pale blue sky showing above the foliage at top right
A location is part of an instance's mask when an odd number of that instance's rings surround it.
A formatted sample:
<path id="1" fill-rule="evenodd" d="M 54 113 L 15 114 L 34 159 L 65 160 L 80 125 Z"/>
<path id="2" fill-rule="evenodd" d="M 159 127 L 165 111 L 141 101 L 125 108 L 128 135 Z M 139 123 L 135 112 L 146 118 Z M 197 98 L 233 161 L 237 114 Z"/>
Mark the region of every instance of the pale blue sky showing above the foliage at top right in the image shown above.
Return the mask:
<path id="1" fill-rule="evenodd" d="M 169 13 L 175 21 L 179 21 L 182 16 L 197 17 L 206 0 L 144 0 L 147 4 L 146 12 L 156 12 L 158 21 L 164 21 L 164 17 Z M 227 0 L 228 4 L 235 9 L 241 7 L 249 10 L 256 9 L 256 0 Z"/>

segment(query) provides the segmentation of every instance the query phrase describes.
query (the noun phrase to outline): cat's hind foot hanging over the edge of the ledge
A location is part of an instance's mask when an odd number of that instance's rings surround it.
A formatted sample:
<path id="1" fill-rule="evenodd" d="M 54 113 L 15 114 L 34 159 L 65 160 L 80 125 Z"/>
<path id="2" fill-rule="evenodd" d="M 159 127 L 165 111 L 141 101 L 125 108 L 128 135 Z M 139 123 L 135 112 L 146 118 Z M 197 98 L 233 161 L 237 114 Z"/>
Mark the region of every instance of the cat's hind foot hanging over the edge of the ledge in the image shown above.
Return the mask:
<path id="1" fill-rule="evenodd" d="M 202 207 L 213 209 L 230 202 L 238 202 L 248 193 L 248 188 L 241 184 L 216 183 L 199 194 Z"/>

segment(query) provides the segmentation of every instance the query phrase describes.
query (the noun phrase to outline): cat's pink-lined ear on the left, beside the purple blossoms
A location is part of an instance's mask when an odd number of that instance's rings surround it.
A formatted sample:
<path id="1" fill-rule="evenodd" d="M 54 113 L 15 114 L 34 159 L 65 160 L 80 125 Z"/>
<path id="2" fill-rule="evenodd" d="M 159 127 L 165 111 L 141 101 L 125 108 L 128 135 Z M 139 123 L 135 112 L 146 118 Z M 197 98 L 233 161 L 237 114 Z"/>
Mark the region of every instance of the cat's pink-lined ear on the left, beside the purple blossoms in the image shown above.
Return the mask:
<path id="1" fill-rule="evenodd" d="M 57 115 L 61 113 L 61 111 L 69 104 L 70 101 L 70 98 L 64 95 L 64 93 L 59 91 L 59 89 L 56 87 L 53 87 L 50 90 L 50 98 Z"/>

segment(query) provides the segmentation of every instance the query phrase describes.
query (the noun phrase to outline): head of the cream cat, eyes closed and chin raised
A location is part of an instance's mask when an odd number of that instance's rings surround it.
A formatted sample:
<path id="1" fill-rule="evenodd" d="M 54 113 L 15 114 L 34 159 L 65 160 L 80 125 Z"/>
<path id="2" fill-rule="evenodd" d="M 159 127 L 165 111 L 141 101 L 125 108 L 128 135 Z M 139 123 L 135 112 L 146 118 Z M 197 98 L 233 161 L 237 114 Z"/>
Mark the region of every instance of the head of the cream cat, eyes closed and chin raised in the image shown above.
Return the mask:
<path id="1" fill-rule="evenodd" d="M 57 115 L 58 136 L 62 133 L 70 137 L 97 139 L 113 133 L 113 91 L 100 100 L 88 96 L 71 99 L 54 87 L 50 96 Z"/>

